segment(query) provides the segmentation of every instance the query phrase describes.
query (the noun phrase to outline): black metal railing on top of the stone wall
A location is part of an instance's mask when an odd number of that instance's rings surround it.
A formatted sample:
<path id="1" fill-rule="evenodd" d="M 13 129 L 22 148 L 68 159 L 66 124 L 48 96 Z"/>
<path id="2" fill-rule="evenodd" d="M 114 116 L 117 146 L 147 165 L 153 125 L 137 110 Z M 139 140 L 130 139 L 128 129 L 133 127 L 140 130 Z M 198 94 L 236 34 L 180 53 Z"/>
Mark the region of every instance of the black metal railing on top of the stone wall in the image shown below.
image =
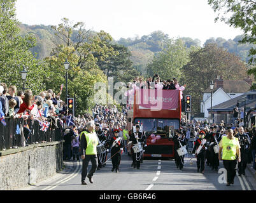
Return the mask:
<path id="1" fill-rule="evenodd" d="M 46 132 L 41 131 L 36 120 L 5 118 L 6 126 L 0 123 L 0 151 L 25 147 L 36 143 L 63 140 L 62 124 L 57 120 L 57 128 L 49 126 Z M 27 126 L 27 127 L 24 127 Z"/>

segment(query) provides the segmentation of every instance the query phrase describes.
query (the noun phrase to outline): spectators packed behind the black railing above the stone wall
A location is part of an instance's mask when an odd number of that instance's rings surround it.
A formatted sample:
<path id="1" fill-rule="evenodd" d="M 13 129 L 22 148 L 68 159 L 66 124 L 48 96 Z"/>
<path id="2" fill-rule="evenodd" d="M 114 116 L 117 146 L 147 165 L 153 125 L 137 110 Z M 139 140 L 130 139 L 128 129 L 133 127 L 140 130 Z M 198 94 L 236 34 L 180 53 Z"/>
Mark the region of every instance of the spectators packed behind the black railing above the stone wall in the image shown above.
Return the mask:
<path id="1" fill-rule="evenodd" d="M 2 82 L 0 84 L 1 123 L 4 124 L 7 118 L 23 118 L 26 146 L 31 133 L 28 125 L 30 121 L 36 119 L 41 122 L 48 122 L 61 119 L 62 123 L 65 122 L 67 106 L 64 101 L 60 100 L 61 90 L 57 95 L 52 89 L 33 95 L 30 89 L 24 92 L 17 90 L 16 86 L 8 86 Z"/>

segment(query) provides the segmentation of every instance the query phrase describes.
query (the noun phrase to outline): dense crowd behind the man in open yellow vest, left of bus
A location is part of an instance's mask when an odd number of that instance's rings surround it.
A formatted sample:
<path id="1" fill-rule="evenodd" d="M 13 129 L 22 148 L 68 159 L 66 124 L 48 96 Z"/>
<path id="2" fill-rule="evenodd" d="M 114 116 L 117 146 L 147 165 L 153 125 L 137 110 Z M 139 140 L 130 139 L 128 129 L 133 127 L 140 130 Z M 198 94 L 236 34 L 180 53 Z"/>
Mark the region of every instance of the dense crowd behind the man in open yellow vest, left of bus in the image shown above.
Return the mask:
<path id="1" fill-rule="evenodd" d="M 93 121 L 99 124 L 99 131 L 104 132 L 106 139 L 110 140 L 114 136 L 114 130 L 119 129 L 119 136 L 124 141 L 124 129 L 127 129 L 127 109 L 117 106 L 96 105 L 92 108 L 91 114 L 78 115 L 73 117 L 74 124 L 64 132 L 64 160 L 78 159 L 79 135 L 87 129 L 87 122 Z"/>

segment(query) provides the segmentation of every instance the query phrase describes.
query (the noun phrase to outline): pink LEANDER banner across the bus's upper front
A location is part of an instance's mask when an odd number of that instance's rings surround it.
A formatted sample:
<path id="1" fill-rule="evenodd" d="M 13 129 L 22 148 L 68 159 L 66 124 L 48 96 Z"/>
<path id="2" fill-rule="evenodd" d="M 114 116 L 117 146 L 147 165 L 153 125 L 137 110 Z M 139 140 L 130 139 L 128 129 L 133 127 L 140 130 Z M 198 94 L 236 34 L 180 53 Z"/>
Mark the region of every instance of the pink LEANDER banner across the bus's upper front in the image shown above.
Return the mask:
<path id="1" fill-rule="evenodd" d="M 139 107 L 146 109 L 176 109 L 178 108 L 179 99 L 178 90 L 162 90 L 162 89 L 141 89 L 137 91 L 136 98 L 140 98 Z M 136 101 L 137 102 L 137 101 Z"/>

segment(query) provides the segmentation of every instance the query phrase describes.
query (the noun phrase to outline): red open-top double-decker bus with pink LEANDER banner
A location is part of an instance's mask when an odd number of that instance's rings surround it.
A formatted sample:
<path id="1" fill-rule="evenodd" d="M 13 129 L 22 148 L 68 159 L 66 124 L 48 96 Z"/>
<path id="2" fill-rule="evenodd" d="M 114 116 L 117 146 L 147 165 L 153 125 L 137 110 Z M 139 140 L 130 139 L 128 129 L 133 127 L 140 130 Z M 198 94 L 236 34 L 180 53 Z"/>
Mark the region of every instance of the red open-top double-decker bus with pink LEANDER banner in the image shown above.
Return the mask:
<path id="1" fill-rule="evenodd" d="M 139 101 L 138 98 L 140 98 Z M 159 102 L 152 105 L 151 101 Z M 157 105 L 160 108 L 152 108 Z M 134 104 L 128 110 L 127 118 L 129 131 L 132 132 L 132 126 L 136 123 L 143 126 L 147 145 L 143 157 L 174 157 L 173 136 L 174 131 L 180 128 L 181 120 L 179 90 L 140 89 L 136 91 Z M 160 139 L 152 142 L 151 134 L 159 135 Z"/>

